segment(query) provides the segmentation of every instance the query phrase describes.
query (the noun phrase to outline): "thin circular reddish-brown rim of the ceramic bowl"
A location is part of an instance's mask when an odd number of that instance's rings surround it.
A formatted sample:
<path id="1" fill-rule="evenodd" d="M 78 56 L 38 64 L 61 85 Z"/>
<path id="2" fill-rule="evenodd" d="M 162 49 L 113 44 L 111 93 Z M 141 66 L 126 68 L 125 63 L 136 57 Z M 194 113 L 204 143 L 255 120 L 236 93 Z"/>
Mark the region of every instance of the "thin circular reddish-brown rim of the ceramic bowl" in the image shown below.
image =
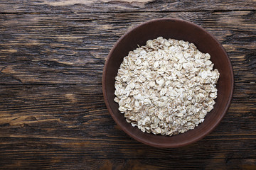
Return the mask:
<path id="1" fill-rule="evenodd" d="M 211 126 L 210 128 L 208 128 L 208 130 L 204 131 L 201 135 L 199 135 L 198 137 L 193 138 L 193 140 L 190 140 L 188 142 L 183 142 L 183 143 L 179 143 L 179 144 L 160 144 L 160 143 L 155 143 L 155 142 L 150 142 L 148 140 L 142 140 L 140 137 L 137 137 L 136 135 L 134 135 L 132 132 L 129 132 L 129 130 L 127 130 L 126 128 L 124 128 L 122 126 L 121 123 L 119 123 L 119 121 L 117 120 L 117 118 L 114 116 L 114 113 L 112 112 L 112 109 L 110 108 L 110 103 L 109 100 L 107 98 L 107 89 L 106 89 L 106 75 L 107 75 L 107 65 L 108 62 L 110 61 L 110 57 L 112 56 L 112 53 L 114 52 L 114 49 L 117 47 L 117 45 L 119 44 L 120 41 L 122 41 L 124 38 L 126 38 L 129 33 L 131 33 L 132 31 L 136 30 L 137 28 L 144 26 L 146 24 L 149 23 L 154 23 L 156 21 L 175 21 L 175 22 L 181 22 L 181 23 L 186 23 L 188 25 L 192 25 L 196 28 L 199 28 L 201 31 L 203 31 L 204 33 L 208 34 L 210 36 L 210 38 L 213 38 L 213 40 L 215 40 L 215 42 L 218 43 L 218 46 L 223 50 L 225 56 L 228 58 L 228 65 L 229 65 L 229 70 L 230 70 L 230 95 L 228 96 L 228 103 L 225 106 L 225 109 L 223 111 L 223 113 L 220 115 L 220 118 L 215 122 L 215 124 L 213 126 Z M 228 108 L 230 107 L 230 103 L 232 101 L 233 98 L 233 91 L 234 91 L 234 72 L 233 72 L 233 66 L 230 62 L 230 57 L 228 57 L 227 52 L 225 51 L 225 48 L 223 47 L 223 45 L 220 44 L 220 42 L 211 34 L 209 33 L 206 29 L 202 28 L 201 26 L 198 26 L 196 23 L 192 23 L 191 21 L 185 21 L 183 19 L 178 19 L 178 18 L 156 18 L 156 19 L 152 19 L 150 21 L 146 21 L 143 23 L 140 23 L 138 26 L 135 26 L 134 28 L 129 29 L 126 33 L 124 33 L 124 35 L 122 35 L 121 38 L 119 38 L 119 40 L 117 40 L 117 42 L 114 43 L 114 46 L 112 47 L 112 49 L 110 50 L 109 54 L 107 55 L 107 59 L 105 61 L 105 65 L 103 68 L 103 73 L 102 73 L 102 92 L 103 92 L 103 97 L 104 97 L 104 101 L 105 104 L 107 106 L 107 111 L 110 113 L 110 115 L 112 116 L 112 118 L 114 119 L 114 122 L 117 123 L 117 125 L 119 125 L 119 127 L 127 133 L 127 135 L 129 135 L 130 137 L 132 137 L 134 140 L 137 140 L 139 142 L 142 142 L 146 145 L 150 145 L 152 147 L 165 147 L 165 148 L 171 148 L 171 147 L 183 147 L 185 145 L 190 145 L 194 142 L 197 142 L 198 140 L 203 139 L 203 137 L 206 137 L 206 135 L 208 135 L 210 132 L 212 132 L 219 124 L 220 121 L 223 120 L 224 115 L 228 112 Z M 153 135 L 153 134 L 152 134 Z M 171 137 L 171 136 L 170 136 Z"/>

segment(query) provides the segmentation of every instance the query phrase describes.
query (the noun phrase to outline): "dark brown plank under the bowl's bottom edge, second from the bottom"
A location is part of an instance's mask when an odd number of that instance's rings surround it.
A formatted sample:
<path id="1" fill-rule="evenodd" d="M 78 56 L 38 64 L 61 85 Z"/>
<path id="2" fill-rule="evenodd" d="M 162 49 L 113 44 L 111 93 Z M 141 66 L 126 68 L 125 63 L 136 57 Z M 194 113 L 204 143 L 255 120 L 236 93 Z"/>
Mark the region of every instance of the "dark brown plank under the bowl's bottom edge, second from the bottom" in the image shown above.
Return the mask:
<path id="1" fill-rule="evenodd" d="M 207 137 L 209 138 L 209 137 Z M 206 139 L 207 139 L 206 138 Z M 81 161 L 81 159 L 255 159 L 255 138 L 251 140 L 201 140 L 176 149 L 159 149 L 124 140 L 67 140 L 36 137 L 1 137 L 1 163 Z M 156 157 L 157 156 L 157 157 Z M 32 159 L 33 158 L 33 159 Z M 41 163 L 42 164 L 42 163 Z M 1 166 L 2 167 L 2 166 Z"/>

